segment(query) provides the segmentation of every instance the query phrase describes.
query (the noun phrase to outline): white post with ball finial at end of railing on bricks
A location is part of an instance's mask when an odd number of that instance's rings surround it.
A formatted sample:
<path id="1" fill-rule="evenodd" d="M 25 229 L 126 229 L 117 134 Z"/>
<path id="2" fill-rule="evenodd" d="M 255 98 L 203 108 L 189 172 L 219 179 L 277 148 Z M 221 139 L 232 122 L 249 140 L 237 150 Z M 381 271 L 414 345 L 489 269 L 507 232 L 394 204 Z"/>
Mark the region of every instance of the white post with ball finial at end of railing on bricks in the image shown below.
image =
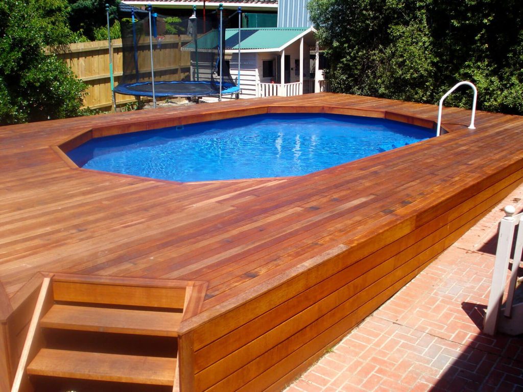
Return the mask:
<path id="1" fill-rule="evenodd" d="M 508 259 L 512 248 L 514 236 L 514 213 L 513 206 L 505 207 L 506 216 L 499 222 L 499 236 L 497 238 L 496 259 L 494 261 L 494 273 L 492 274 L 491 293 L 488 297 L 487 311 L 483 321 L 483 332 L 487 335 L 496 333 L 499 308 L 503 301 L 505 282 L 507 276 Z"/>

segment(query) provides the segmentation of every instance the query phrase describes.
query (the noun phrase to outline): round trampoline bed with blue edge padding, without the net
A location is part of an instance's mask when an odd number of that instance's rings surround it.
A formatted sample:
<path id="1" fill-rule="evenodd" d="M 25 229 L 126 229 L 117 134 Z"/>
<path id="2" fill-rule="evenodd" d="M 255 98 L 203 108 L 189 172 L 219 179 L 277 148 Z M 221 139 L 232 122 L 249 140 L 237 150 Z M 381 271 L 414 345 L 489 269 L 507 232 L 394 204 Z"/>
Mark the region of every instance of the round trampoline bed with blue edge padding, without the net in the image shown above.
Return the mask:
<path id="1" fill-rule="evenodd" d="M 202 80 L 200 82 L 154 82 L 156 97 L 206 97 L 220 95 L 220 85 Z M 153 97 L 151 82 L 119 84 L 115 92 L 124 95 Z M 231 83 L 222 84 L 222 95 L 239 93 L 240 88 Z"/>

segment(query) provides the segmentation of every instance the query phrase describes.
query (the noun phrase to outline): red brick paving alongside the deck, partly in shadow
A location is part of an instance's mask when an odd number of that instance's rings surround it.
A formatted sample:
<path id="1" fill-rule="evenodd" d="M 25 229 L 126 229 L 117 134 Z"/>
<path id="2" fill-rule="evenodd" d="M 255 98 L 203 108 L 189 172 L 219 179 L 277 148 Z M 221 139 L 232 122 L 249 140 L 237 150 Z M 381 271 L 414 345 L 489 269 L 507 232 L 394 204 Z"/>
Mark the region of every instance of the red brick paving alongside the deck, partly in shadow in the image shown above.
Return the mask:
<path id="1" fill-rule="evenodd" d="M 286 392 L 523 391 L 523 339 L 480 329 L 508 204 L 523 185 Z"/>

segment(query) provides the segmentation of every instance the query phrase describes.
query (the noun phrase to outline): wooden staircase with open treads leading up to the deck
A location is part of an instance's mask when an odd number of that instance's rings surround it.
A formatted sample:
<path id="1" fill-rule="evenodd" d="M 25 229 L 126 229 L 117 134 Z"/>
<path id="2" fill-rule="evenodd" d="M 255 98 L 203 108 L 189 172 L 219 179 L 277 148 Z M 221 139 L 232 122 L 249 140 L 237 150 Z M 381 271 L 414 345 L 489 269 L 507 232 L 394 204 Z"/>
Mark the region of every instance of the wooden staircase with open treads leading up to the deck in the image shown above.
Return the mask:
<path id="1" fill-rule="evenodd" d="M 12 392 L 176 391 L 187 287 L 44 279 Z"/>

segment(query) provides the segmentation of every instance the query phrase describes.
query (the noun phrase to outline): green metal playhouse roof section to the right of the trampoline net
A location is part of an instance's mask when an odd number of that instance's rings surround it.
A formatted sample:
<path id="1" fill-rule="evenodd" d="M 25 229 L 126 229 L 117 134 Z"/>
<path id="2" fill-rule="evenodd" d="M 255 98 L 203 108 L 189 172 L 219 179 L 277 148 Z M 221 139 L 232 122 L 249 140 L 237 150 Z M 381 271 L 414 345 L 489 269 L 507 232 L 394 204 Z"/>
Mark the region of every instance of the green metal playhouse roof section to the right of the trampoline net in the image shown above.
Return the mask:
<path id="1" fill-rule="evenodd" d="M 265 27 L 241 30 L 241 48 L 277 49 L 293 41 L 309 27 Z M 238 29 L 225 30 L 225 49 L 238 49 Z"/>

